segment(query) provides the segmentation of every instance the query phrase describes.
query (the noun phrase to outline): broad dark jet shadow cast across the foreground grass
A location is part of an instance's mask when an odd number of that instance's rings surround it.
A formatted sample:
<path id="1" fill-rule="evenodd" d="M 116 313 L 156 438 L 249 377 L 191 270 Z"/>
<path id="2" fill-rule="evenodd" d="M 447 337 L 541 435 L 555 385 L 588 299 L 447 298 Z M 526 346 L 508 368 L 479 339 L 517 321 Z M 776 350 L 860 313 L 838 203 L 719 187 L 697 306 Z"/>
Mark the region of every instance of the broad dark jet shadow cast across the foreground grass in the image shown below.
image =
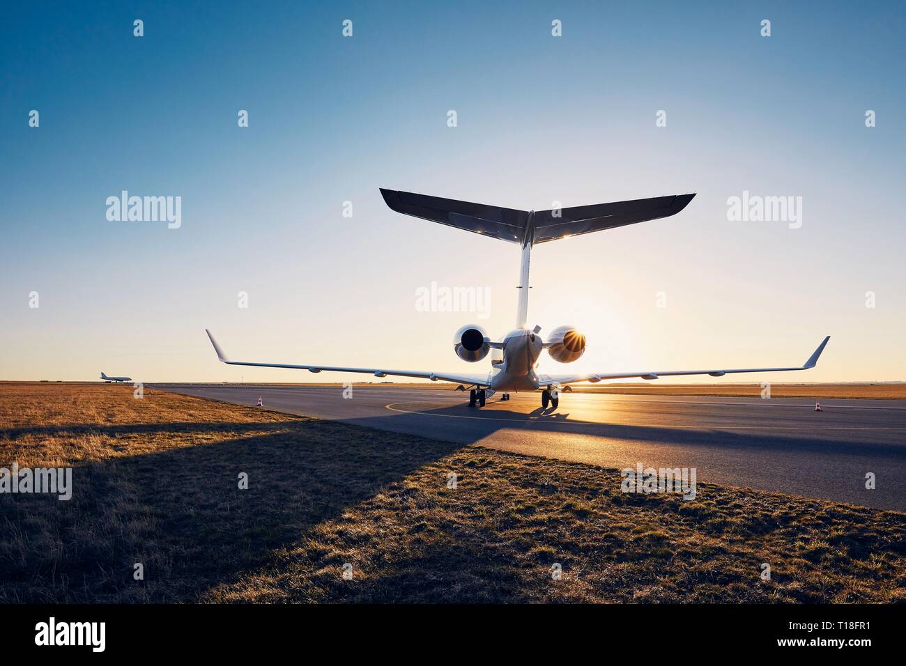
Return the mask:
<path id="1" fill-rule="evenodd" d="M 281 428 L 260 434 L 261 426 Z M 5 496 L 0 523 L 21 529 L 0 553 L 0 601 L 197 602 L 298 545 L 314 526 L 461 448 L 429 439 L 413 446 L 411 438 L 330 421 L 97 430 L 153 436 L 174 428 L 259 434 L 73 468 L 68 501 Z M 248 475 L 246 490 L 238 488 L 240 473 Z M 144 580 L 134 580 L 136 563 Z"/>

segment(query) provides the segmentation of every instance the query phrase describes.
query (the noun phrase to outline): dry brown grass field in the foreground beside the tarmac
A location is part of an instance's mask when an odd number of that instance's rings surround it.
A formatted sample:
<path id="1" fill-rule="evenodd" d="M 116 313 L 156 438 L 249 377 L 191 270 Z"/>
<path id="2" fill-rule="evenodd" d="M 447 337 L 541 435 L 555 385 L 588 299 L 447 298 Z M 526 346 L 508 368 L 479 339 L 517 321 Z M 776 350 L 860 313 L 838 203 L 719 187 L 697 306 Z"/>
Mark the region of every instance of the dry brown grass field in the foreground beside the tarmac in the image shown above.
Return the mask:
<path id="1" fill-rule="evenodd" d="M 3 603 L 906 601 L 903 514 L 623 495 L 612 469 L 164 391 L 0 384 L 14 460 L 74 488 L 0 495 Z"/>

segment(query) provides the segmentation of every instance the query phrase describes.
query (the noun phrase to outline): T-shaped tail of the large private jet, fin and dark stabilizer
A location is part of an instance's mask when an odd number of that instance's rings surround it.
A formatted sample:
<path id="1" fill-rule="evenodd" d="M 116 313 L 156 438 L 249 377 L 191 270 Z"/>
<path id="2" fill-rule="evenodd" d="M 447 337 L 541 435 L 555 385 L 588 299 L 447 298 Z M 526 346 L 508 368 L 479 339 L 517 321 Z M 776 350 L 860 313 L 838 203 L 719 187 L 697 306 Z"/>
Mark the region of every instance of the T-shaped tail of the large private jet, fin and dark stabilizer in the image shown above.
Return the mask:
<path id="1" fill-rule="evenodd" d="M 580 236 L 593 231 L 625 227 L 660 217 L 676 215 L 686 208 L 695 194 L 671 195 L 592 204 L 551 210 L 518 210 L 474 204 L 457 199 L 429 197 L 423 194 L 381 188 L 387 205 L 404 215 L 421 217 L 448 227 L 472 231 L 522 247 L 519 265 L 519 303 L 516 326 L 528 323 L 529 263 L 532 246 L 559 238 Z"/>

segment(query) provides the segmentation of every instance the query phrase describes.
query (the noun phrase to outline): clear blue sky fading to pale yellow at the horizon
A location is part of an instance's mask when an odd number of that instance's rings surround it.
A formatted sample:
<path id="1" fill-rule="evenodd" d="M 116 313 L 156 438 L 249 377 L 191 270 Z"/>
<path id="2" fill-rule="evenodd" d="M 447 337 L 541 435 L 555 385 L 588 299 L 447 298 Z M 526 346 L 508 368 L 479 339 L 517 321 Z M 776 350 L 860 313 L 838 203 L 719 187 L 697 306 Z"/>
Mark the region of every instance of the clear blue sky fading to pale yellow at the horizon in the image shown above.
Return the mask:
<path id="1" fill-rule="evenodd" d="M 0 379 L 313 379 L 222 366 L 205 327 L 237 358 L 474 372 L 448 343 L 475 317 L 416 290 L 487 288 L 502 335 L 516 248 L 379 187 L 524 209 L 697 192 L 536 249 L 530 319 L 587 333 L 576 370 L 801 362 L 831 334 L 797 380 L 906 379 L 903 5 L 489 5 L 5 9 Z M 123 189 L 181 197 L 182 226 L 108 221 Z M 728 221 L 744 190 L 802 197 L 802 227 Z"/>

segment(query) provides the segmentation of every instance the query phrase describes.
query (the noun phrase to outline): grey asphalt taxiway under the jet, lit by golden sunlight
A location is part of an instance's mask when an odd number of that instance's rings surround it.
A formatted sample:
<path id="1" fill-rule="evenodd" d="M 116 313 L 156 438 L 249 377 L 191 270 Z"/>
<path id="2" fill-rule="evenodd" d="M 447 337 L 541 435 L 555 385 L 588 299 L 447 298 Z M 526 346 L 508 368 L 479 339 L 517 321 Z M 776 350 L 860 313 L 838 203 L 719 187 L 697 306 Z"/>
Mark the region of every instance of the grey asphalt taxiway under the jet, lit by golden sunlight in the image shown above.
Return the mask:
<path id="1" fill-rule="evenodd" d="M 469 408 L 458 391 L 341 386 L 152 385 L 381 430 L 608 468 L 697 468 L 698 481 L 906 511 L 906 401 L 537 394 Z M 865 487 L 875 475 L 875 489 Z"/>

